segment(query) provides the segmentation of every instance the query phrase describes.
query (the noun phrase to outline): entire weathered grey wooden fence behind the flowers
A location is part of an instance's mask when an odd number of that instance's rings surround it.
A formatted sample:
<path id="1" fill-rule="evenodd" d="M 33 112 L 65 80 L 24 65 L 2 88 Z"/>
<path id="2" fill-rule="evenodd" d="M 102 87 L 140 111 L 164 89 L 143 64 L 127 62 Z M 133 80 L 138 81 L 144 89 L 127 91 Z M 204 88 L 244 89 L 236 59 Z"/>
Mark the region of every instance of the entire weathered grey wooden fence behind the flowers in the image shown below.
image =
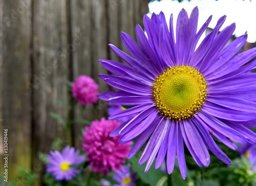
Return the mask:
<path id="1" fill-rule="evenodd" d="M 99 59 L 119 59 L 108 43 L 124 49 L 120 31 L 135 38 L 149 0 L 0 0 L 0 175 L 4 171 L 3 129 L 8 129 L 9 180 L 17 167 L 42 175 L 38 152 L 49 152 L 62 138 L 61 124 L 50 117 L 66 117 L 69 102 L 66 82 L 80 74 L 93 77 L 99 91 L 108 86 L 98 73 L 108 73 Z M 105 116 L 106 102 L 81 108 L 75 118 Z M 73 125 L 79 148 L 81 125 Z"/>

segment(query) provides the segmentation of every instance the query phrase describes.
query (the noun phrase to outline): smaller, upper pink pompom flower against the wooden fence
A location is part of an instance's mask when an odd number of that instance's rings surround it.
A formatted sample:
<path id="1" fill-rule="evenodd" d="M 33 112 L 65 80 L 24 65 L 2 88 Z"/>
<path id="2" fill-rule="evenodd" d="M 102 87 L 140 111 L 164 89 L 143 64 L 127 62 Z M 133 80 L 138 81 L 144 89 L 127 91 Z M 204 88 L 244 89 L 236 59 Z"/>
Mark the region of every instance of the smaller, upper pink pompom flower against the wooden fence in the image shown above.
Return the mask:
<path id="1" fill-rule="evenodd" d="M 72 83 L 72 96 L 82 105 L 96 103 L 98 94 L 98 85 L 89 76 L 80 75 Z"/>

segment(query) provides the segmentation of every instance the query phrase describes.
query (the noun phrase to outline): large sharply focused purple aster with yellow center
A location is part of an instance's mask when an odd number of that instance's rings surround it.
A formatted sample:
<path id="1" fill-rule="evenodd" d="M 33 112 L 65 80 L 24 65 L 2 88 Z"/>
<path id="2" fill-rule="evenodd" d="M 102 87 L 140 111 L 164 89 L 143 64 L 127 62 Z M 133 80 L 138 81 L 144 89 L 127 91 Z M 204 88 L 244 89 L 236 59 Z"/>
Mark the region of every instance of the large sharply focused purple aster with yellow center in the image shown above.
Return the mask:
<path id="1" fill-rule="evenodd" d="M 140 165 L 147 161 L 145 171 L 155 158 L 155 168 L 159 168 L 166 157 L 167 172 L 172 173 L 177 154 L 185 179 L 184 144 L 198 166 L 207 167 L 210 163 L 208 150 L 225 164 L 231 164 L 212 136 L 231 149 L 237 147 L 230 140 L 255 143 L 256 134 L 247 127 L 256 127 L 256 103 L 250 100 L 256 91 L 256 74 L 248 73 L 256 61 L 244 64 L 256 56 L 256 48 L 236 55 L 247 35 L 225 47 L 236 28 L 233 23 L 219 33 L 225 18 L 218 20 L 214 30 L 196 48 L 211 16 L 197 32 L 198 8 L 190 17 L 182 9 L 175 38 L 173 15 L 169 26 L 162 12 L 153 14 L 152 18 L 145 15 L 146 35 L 140 25 L 136 26 L 139 45 L 131 36 L 121 33 L 125 47 L 134 58 L 110 45 L 129 65 L 99 61 L 117 75 L 100 74 L 100 78 L 121 91 L 104 92 L 98 97 L 110 104 L 136 105 L 109 117 L 118 119 L 136 114 L 117 127 L 111 136 L 121 135 L 119 143 L 138 137 L 128 158 L 147 142 L 139 160 Z"/>

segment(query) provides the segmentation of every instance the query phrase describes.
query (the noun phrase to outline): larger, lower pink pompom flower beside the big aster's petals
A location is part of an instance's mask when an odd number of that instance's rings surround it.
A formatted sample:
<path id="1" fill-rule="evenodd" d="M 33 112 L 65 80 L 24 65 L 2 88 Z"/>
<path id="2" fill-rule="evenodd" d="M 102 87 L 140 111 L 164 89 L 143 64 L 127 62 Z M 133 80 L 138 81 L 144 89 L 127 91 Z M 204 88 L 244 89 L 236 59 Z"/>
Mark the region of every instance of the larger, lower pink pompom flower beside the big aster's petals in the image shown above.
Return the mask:
<path id="1" fill-rule="evenodd" d="M 91 126 L 86 126 L 83 132 L 82 149 L 87 153 L 89 168 L 95 172 L 109 174 L 110 170 L 118 171 L 122 168 L 124 158 L 129 154 L 132 142 L 119 144 L 119 136 L 110 137 L 110 133 L 120 122 L 116 120 L 95 120 Z"/>

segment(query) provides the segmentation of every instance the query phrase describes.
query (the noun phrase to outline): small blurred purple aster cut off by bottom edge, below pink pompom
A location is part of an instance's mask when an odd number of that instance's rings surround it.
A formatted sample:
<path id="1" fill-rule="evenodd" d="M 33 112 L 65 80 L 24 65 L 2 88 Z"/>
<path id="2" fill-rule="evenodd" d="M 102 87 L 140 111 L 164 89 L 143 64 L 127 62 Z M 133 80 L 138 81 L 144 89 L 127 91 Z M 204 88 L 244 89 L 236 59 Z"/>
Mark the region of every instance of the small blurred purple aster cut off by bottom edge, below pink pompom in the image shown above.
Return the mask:
<path id="1" fill-rule="evenodd" d="M 113 176 L 113 179 L 119 183 L 114 186 L 134 186 L 136 174 L 131 171 L 130 165 L 126 165 Z"/>

